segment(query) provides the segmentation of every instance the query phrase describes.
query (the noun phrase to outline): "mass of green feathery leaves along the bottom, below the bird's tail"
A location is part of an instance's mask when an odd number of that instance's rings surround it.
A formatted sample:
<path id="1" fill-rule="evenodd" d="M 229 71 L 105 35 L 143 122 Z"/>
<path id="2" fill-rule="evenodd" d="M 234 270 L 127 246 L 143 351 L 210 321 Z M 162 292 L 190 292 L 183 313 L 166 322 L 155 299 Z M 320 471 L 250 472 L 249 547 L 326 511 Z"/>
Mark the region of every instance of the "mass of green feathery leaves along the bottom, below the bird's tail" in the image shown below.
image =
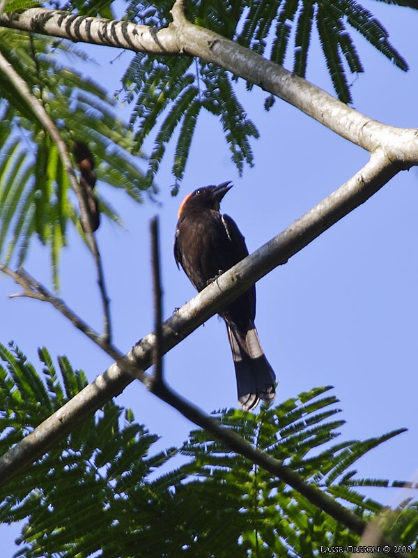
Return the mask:
<path id="1" fill-rule="evenodd" d="M 40 374 L 17 347 L 0 345 L 1 454 L 86 385 L 65 357 L 58 368 L 47 349 L 39 357 Z M 369 520 L 382 506 L 353 487 L 388 483 L 356 481 L 348 468 L 401 430 L 330 445 L 343 421 L 328 389 L 257 415 L 230 409 L 217 419 Z M 207 432 L 191 433 L 181 449 L 187 463 L 177 468 L 170 461 L 176 449 L 155 452 L 155 442 L 132 411 L 108 402 L 1 488 L 0 521 L 23 522 L 15 556 L 309 558 L 320 545 L 358 543 L 346 527 Z M 394 513 L 393 541 L 415 548 L 417 507 L 405 504 Z"/>

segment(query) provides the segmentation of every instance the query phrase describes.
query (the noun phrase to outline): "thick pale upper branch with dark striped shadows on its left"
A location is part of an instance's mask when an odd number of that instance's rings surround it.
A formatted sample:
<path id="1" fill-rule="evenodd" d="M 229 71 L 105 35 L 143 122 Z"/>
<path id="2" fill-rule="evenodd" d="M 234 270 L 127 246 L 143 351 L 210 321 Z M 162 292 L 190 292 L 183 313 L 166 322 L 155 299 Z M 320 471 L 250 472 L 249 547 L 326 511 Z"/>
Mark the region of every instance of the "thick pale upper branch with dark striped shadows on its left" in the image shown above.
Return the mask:
<path id="1" fill-rule="evenodd" d="M 418 164 L 415 128 L 387 126 L 357 112 L 263 56 L 190 23 L 183 7 L 183 0 L 176 0 L 171 9 L 173 22 L 164 29 L 44 8 L 1 15 L 0 26 L 134 52 L 199 56 L 285 100 L 367 151 L 383 146 L 387 156 L 402 169 Z"/>

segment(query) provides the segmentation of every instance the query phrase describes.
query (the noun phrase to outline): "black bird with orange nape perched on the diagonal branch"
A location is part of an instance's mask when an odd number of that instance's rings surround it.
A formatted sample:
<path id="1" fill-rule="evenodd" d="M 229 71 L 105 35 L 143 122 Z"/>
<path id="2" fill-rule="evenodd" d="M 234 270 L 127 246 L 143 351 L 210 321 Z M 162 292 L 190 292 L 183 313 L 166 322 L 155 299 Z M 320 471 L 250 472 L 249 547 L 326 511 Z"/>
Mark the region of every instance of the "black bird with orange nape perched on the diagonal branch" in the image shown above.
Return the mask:
<path id="1" fill-rule="evenodd" d="M 231 181 L 189 193 L 178 210 L 174 257 L 197 291 L 248 255 L 245 238 L 235 221 L 219 211 Z M 260 399 L 272 402 L 276 375 L 258 339 L 256 287 L 252 285 L 219 312 L 226 323 L 235 367 L 238 402 L 245 411 Z"/>

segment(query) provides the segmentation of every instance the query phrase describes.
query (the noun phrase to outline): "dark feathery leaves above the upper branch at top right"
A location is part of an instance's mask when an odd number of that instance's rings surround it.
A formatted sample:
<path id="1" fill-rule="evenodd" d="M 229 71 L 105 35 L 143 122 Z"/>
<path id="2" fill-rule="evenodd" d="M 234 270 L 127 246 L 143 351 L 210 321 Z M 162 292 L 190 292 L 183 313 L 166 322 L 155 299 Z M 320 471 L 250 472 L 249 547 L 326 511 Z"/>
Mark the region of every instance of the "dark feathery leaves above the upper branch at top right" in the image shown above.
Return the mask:
<path id="1" fill-rule="evenodd" d="M 389 43 L 389 33 L 373 14 L 354 0 L 257 0 L 251 2 L 237 40 L 283 65 L 293 37 L 293 72 L 305 77 L 313 26 L 323 47 L 334 90 L 341 100 L 352 98 L 348 71 L 364 71 L 350 29 L 362 34 L 378 52 L 401 70 L 408 64 Z"/>

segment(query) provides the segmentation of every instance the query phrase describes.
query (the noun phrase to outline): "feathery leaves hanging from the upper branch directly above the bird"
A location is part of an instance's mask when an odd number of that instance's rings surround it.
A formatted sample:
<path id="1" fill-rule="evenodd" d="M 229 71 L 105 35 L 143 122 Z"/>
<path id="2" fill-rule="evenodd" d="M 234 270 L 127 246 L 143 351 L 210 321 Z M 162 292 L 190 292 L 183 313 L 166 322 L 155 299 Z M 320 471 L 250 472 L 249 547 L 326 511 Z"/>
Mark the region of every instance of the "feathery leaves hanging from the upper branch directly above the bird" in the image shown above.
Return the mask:
<path id="1" fill-rule="evenodd" d="M 204 61 L 187 57 L 164 57 L 137 53 L 125 73 L 128 100 L 136 97 L 132 125 L 139 120 L 136 135 L 139 148 L 157 122 L 162 123 L 150 153 L 147 183 L 152 183 L 171 138 L 176 139 L 172 172 L 177 181 L 183 178 L 196 121 L 202 109 L 218 116 L 239 171 L 244 163 L 253 164 L 249 137 L 258 137 L 254 123 L 248 119 L 235 95 L 231 77 Z"/>

